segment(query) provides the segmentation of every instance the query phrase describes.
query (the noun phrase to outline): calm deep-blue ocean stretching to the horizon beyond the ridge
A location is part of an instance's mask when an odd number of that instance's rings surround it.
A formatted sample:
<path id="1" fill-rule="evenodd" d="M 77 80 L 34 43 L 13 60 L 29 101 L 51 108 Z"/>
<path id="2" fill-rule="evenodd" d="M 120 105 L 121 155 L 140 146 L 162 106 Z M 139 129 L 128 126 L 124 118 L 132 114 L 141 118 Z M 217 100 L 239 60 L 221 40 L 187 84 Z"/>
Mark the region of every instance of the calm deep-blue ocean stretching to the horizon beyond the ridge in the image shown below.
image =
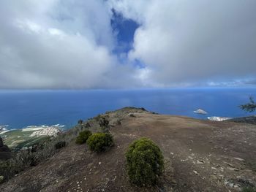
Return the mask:
<path id="1" fill-rule="evenodd" d="M 256 99 L 256 88 L 187 88 L 136 91 L 0 91 L 0 125 L 10 128 L 62 124 L 75 125 L 79 119 L 121 107 L 194 118 L 250 115 L 239 104 Z M 193 112 L 201 108 L 208 115 Z M 255 113 L 253 114 L 255 115 Z"/>

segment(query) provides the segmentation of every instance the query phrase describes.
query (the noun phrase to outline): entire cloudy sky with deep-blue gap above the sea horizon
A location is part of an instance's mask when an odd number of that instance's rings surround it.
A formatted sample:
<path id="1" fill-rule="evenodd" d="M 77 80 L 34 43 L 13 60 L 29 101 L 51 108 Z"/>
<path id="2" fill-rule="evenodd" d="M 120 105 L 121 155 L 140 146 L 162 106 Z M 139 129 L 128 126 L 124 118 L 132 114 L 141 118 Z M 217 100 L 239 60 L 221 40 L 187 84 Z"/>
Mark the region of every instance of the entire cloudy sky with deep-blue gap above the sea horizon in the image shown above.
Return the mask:
<path id="1" fill-rule="evenodd" d="M 256 85 L 255 0 L 0 0 L 0 89 Z"/>

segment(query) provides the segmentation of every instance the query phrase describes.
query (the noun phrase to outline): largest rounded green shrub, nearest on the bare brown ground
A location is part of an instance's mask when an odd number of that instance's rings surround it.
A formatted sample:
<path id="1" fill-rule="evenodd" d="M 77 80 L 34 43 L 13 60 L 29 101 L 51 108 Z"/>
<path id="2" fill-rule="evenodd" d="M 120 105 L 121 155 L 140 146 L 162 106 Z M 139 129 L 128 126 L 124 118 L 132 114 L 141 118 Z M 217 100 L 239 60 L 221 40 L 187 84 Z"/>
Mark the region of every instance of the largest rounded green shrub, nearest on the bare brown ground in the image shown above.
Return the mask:
<path id="1" fill-rule="evenodd" d="M 141 138 L 132 142 L 125 155 L 127 174 L 132 183 L 138 186 L 157 183 L 164 160 L 162 151 L 151 139 Z"/>

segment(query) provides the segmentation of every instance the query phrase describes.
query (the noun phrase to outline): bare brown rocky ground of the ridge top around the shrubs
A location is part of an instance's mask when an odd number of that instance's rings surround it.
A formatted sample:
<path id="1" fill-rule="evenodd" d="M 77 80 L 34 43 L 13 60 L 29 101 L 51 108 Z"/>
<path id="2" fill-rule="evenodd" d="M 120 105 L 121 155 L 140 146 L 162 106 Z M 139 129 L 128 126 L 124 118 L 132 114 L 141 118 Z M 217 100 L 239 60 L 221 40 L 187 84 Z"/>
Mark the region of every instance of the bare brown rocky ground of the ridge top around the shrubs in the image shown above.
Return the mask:
<path id="1" fill-rule="evenodd" d="M 256 185 L 255 125 L 125 108 L 80 126 L 99 131 L 104 118 L 116 143 L 109 151 L 91 153 L 86 145 L 70 142 L 48 161 L 0 185 L 0 191 L 213 192 Z M 154 140 L 165 156 L 165 172 L 154 188 L 131 185 L 124 169 L 124 153 L 140 137 Z"/>

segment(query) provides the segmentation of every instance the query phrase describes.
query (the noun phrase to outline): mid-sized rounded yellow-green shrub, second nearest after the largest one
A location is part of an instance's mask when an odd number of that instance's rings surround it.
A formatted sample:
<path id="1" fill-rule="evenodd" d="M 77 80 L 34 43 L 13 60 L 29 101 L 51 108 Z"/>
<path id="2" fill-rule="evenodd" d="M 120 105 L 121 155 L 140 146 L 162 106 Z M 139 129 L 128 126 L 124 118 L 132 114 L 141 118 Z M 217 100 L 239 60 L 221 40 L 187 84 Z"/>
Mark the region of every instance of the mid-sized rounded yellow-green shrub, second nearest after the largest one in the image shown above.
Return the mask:
<path id="1" fill-rule="evenodd" d="M 113 137 L 111 134 L 106 133 L 92 134 L 86 143 L 89 145 L 90 150 L 101 152 L 113 145 Z"/>

